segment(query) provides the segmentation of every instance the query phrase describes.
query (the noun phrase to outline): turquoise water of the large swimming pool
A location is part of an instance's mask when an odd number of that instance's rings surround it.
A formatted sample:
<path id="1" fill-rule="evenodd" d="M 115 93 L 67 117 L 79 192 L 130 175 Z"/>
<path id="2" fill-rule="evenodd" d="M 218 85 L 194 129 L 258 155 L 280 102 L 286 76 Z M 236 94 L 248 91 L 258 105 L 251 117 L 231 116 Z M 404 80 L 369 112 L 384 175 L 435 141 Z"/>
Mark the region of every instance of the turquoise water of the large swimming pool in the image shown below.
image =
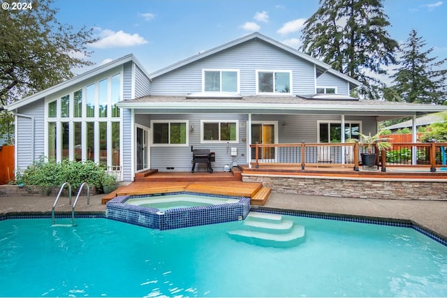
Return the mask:
<path id="1" fill-rule="evenodd" d="M 164 231 L 0 221 L 0 296 L 447 296 L 447 247 L 416 230 L 284 218 L 305 227 L 290 248 L 235 241 L 228 232 L 242 221 Z"/>

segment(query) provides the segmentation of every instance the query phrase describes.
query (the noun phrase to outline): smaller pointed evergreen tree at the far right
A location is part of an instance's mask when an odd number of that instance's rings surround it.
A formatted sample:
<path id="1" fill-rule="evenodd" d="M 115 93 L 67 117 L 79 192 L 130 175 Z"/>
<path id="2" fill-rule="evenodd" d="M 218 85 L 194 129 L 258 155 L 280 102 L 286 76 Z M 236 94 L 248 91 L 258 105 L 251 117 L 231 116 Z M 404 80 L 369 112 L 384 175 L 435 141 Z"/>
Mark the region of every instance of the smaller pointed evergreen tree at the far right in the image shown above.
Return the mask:
<path id="1" fill-rule="evenodd" d="M 433 47 L 423 52 L 426 45 L 418 32 L 411 30 L 401 47 L 400 68 L 391 76 L 394 80 L 390 89 L 394 89 L 406 103 L 442 105 L 447 103 L 447 69 L 440 67 L 447 59 L 436 61 L 437 57 L 430 58 Z M 395 98 L 386 96 L 386 100 L 395 101 Z"/>

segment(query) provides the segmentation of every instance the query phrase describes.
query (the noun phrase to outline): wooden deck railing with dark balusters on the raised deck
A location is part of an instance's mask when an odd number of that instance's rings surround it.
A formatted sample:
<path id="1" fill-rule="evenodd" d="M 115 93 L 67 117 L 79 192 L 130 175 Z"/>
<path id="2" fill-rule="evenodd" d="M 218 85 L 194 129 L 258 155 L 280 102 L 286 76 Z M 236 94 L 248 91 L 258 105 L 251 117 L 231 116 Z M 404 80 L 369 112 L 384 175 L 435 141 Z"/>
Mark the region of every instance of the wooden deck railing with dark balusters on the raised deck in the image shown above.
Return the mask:
<path id="1" fill-rule="evenodd" d="M 447 142 L 402 143 L 394 142 L 387 151 L 376 154 L 375 165 L 381 167 L 437 167 L 447 166 Z M 358 170 L 361 154 L 367 148 L 358 142 L 349 143 L 298 143 L 298 144 L 251 144 L 251 165 L 288 165 L 313 167 L 352 167 Z"/>

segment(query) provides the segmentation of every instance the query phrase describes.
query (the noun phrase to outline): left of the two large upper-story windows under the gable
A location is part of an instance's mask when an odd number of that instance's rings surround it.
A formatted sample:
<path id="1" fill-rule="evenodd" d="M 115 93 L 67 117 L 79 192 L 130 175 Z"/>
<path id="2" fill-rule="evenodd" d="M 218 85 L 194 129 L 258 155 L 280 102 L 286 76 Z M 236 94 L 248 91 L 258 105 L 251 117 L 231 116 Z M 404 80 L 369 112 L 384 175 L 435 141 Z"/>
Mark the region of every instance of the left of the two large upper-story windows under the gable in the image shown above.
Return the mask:
<path id="1" fill-rule="evenodd" d="M 239 70 L 204 69 L 203 91 L 239 93 Z"/>

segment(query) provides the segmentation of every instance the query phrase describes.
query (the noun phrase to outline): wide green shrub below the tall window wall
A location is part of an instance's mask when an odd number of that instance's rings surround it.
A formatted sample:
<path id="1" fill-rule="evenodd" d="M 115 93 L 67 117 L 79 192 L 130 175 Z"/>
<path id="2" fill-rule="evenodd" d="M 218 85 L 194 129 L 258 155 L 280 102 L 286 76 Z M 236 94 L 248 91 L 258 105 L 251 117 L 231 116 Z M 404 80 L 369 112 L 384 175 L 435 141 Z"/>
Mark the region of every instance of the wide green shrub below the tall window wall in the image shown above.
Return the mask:
<path id="1" fill-rule="evenodd" d="M 108 177 L 113 176 L 105 173 L 104 167 L 96 165 L 93 161 L 64 160 L 57 163 L 54 160 L 45 161 L 45 158 L 41 157 L 27 167 L 23 174 L 17 174 L 16 181 L 28 186 L 38 186 L 41 189 L 59 187 L 64 182 L 68 182 L 73 190 L 76 190 L 84 182 L 87 182 L 89 186 L 101 188 L 103 181 L 110 180 Z"/>

